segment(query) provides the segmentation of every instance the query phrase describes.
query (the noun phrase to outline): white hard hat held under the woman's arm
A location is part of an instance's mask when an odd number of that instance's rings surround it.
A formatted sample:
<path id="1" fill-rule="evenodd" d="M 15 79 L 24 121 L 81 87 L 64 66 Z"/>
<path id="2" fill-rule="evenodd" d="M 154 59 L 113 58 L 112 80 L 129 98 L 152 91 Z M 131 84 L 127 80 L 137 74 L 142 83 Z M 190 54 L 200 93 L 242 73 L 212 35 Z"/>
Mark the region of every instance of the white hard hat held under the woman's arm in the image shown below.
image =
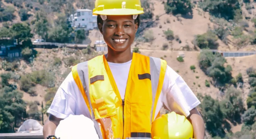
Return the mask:
<path id="1" fill-rule="evenodd" d="M 62 120 L 55 136 L 61 139 L 99 139 L 93 121 L 84 115 L 69 115 Z"/>

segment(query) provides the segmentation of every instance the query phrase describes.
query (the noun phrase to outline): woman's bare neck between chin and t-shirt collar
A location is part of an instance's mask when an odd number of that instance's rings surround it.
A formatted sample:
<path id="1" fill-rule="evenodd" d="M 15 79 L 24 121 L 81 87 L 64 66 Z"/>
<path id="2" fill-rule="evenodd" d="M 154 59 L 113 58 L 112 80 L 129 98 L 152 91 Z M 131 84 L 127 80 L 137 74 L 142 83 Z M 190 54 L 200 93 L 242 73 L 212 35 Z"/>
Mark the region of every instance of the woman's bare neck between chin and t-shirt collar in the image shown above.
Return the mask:
<path id="1" fill-rule="evenodd" d="M 122 52 L 114 51 L 110 47 L 108 47 L 108 54 L 105 56 L 107 62 L 111 63 L 126 63 L 132 60 L 132 53 L 130 47 Z"/>

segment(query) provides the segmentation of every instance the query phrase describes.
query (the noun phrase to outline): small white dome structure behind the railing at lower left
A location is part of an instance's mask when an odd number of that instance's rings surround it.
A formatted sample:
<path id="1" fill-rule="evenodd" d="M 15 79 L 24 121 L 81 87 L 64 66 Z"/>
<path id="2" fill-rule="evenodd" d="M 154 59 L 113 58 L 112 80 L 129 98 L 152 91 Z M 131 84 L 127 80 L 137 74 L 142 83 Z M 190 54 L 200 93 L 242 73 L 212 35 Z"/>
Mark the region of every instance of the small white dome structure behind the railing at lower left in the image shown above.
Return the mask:
<path id="1" fill-rule="evenodd" d="M 38 133 L 42 132 L 43 126 L 36 120 L 28 119 L 18 129 L 18 133 Z"/>

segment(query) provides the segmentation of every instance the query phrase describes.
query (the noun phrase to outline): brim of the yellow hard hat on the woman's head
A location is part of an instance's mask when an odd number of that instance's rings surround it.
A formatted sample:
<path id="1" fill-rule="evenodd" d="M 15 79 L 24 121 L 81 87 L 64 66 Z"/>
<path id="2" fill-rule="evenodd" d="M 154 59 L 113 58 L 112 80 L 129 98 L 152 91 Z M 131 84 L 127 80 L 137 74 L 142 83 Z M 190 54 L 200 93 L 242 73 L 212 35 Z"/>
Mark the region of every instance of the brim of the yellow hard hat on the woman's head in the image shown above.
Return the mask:
<path id="1" fill-rule="evenodd" d="M 144 11 L 137 9 L 104 9 L 101 11 L 94 11 L 93 15 L 139 15 Z"/>

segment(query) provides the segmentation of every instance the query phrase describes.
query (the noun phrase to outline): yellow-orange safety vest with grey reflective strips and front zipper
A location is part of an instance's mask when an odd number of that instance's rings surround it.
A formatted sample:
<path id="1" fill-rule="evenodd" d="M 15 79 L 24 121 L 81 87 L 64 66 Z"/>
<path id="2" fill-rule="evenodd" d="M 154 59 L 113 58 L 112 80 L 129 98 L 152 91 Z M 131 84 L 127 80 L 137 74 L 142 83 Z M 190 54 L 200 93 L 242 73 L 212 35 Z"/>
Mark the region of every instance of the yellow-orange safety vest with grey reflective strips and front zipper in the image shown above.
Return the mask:
<path id="1" fill-rule="evenodd" d="M 166 65 L 160 58 L 133 53 L 124 100 L 104 55 L 72 67 L 100 139 L 152 138 Z"/>

